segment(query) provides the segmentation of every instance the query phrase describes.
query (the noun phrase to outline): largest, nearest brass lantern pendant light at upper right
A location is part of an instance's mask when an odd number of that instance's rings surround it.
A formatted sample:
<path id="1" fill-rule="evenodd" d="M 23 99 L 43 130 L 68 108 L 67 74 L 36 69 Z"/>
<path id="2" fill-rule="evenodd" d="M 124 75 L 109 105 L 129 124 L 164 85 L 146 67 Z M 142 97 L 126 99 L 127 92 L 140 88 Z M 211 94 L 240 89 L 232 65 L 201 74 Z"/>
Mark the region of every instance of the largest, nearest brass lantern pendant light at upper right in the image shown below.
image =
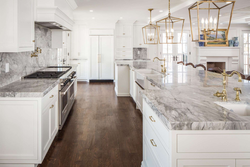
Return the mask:
<path id="1" fill-rule="evenodd" d="M 188 8 L 193 42 L 228 42 L 235 1 L 203 0 Z M 225 15 L 221 15 L 221 11 Z M 221 21 L 221 22 L 220 22 Z M 225 23 L 228 25 L 225 25 Z M 222 25 L 225 28 L 219 28 Z"/>

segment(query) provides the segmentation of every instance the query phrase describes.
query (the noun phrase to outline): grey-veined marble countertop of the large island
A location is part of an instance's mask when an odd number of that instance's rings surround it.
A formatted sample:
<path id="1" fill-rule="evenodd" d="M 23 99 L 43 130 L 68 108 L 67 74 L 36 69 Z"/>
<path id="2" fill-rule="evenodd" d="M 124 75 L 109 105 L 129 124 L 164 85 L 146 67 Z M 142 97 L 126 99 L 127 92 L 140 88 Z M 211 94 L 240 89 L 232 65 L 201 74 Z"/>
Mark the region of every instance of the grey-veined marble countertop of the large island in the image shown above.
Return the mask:
<path id="1" fill-rule="evenodd" d="M 121 63 L 120 63 L 121 64 Z M 124 62 L 125 64 L 125 62 Z M 130 68 L 160 71 L 160 64 L 130 62 Z M 169 64 L 168 75 L 148 76 L 147 80 L 161 90 L 142 90 L 143 98 L 170 130 L 250 130 L 250 117 L 240 116 L 215 102 L 222 91 L 222 75 Z M 242 89 L 241 102 L 235 102 L 234 87 Z M 228 103 L 250 105 L 250 81 L 238 82 L 237 75 L 228 78 Z"/>

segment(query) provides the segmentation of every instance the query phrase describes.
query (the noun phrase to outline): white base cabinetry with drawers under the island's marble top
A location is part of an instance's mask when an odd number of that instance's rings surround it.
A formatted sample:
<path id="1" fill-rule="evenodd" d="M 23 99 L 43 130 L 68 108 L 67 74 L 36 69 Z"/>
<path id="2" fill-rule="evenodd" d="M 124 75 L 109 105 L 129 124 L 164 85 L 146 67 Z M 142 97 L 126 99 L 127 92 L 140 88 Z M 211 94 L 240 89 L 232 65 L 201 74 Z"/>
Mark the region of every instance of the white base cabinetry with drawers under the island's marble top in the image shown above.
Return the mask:
<path id="1" fill-rule="evenodd" d="M 170 130 L 142 105 L 143 167 L 250 167 L 249 130 Z"/>

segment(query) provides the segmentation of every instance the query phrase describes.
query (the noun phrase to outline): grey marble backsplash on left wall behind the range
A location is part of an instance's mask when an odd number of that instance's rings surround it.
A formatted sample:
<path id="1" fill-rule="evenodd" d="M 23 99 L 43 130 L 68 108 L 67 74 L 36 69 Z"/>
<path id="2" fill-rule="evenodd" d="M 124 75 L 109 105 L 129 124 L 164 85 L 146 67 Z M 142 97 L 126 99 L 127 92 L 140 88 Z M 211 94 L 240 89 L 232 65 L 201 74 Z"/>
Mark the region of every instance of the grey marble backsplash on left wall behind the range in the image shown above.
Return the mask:
<path id="1" fill-rule="evenodd" d="M 60 50 L 51 48 L 52 32 L 50 29 L 35 25 L 35 48 L 40 47 L 42 53 L 31 57 L 31 52 L 0 53 L 0 87 L 19 80 L 22 76 L 40 68 L 58 63 Z M 5 65 L 9 63 L 9 72 L 5 73 Z"/>

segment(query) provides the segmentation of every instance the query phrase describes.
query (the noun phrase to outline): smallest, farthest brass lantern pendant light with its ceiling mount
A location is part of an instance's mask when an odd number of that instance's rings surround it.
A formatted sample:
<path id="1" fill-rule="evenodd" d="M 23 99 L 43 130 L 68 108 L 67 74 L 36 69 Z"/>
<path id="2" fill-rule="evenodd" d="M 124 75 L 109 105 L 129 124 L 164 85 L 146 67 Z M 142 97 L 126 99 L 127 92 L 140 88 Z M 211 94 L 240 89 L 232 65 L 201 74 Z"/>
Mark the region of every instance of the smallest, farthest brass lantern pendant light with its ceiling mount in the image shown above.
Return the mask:
<path id="1" fill-rule="evenodd" d="M 151 12 L 153 9 L 148 10 L 150 11 L 150 22 L 142 27 L 143 41 L 144 44 L 158 44 L 159 26 L 152 24 Z"/>

